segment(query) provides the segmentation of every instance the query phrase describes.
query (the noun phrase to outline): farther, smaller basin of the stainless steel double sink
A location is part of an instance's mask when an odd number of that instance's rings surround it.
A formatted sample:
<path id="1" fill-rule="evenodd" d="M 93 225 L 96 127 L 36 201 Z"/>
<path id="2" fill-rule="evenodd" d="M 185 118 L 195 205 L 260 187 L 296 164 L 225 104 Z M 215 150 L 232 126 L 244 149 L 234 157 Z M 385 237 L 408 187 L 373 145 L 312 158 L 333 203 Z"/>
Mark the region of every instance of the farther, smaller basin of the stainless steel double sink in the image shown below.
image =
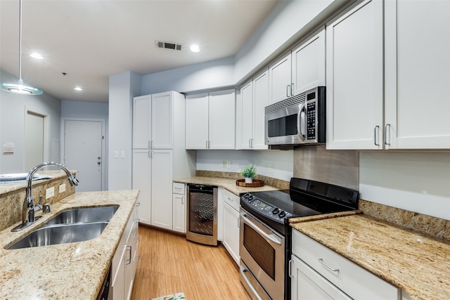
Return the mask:
<path id="1" fill-rule="evenodd" d="M 69 209 L 62 211 L 44 226 L 53 226 L 55 224 L 72 224 L 72 223 L 92 223 L 92 222 L 109 222 L 119 207 L 83 207 L 77 209 Z"/>

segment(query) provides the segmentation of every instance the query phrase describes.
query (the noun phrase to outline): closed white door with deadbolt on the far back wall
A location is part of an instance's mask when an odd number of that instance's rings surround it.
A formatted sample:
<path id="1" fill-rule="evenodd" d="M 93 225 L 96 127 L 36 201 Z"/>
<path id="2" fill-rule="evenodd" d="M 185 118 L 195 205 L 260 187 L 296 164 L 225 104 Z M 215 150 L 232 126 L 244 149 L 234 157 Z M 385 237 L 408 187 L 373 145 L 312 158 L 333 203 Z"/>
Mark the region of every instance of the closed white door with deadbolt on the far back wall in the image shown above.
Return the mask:
<path id="1" fill-rule="evenodd" d="M 102 190 L 103 122 L 65 119 L 64 164 L 78 170 L 77 191 Z"/>

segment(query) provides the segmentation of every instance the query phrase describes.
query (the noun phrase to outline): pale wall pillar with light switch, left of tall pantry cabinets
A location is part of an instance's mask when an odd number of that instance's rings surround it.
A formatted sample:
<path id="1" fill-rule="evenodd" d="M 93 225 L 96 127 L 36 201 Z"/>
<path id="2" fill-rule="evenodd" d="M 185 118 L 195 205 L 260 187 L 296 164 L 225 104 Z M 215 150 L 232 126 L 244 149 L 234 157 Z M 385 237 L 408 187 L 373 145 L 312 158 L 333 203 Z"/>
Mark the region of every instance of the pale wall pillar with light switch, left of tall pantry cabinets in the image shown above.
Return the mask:
<path id="1" fill-rule="evenodd" d="M 110 76 L 108 189 L 131 189 L 133 97 L 140 96 L 141 77 L 134 72 Z M 119 157 L 114 157 L 114 152 Z M 122 157 L 123 152 L 123 157 Z"/>

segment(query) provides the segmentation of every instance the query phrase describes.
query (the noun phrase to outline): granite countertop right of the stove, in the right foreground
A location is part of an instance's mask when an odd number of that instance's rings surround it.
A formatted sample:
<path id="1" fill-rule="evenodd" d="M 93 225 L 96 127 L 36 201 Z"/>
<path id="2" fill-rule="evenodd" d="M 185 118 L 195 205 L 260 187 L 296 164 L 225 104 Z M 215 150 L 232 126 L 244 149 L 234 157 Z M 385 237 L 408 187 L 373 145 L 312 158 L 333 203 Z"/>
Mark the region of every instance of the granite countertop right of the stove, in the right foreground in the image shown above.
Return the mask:
<path id="1" fill-rule="evenodd" d="M 291 226 L 401 287 L 411 299 L 450 299 L 450 242 L 364 214 Z"/>

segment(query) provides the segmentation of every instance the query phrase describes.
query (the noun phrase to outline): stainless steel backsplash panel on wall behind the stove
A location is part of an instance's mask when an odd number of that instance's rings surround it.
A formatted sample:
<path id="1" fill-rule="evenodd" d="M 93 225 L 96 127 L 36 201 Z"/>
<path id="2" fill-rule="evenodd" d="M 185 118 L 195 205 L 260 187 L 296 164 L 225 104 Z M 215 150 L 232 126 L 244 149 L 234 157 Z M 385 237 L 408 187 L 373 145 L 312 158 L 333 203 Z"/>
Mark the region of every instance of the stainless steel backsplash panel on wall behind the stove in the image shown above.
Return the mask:
<path id="1" fill-rule="evenodd" d="M 359 152 L 326 150 L 325 145 L 296 147 L 294 177 L 359 190 Z"/>

